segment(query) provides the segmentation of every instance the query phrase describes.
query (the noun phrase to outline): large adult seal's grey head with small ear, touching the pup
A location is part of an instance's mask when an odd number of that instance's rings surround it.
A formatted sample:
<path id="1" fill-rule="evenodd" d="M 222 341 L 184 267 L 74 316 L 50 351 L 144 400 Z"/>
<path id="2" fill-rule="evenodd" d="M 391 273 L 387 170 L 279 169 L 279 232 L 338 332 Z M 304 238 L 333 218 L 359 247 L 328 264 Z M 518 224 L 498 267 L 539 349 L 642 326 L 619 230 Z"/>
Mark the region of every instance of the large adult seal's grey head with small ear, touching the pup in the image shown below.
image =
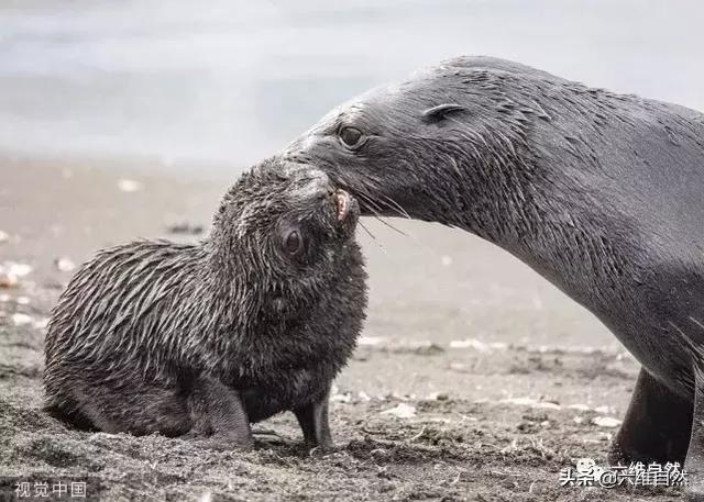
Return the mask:
<path id="1" fill-rule="evenodd" d="M 546 75 L 492 58 L 449 60 L 336 108 L 284 156 L 326 171 L 363 214 L 466 226 L 457 220 L 465 214 L 482 226 L 496 204 L 520 198 L 527 129 L 541 113 L 530 88 Z"/>

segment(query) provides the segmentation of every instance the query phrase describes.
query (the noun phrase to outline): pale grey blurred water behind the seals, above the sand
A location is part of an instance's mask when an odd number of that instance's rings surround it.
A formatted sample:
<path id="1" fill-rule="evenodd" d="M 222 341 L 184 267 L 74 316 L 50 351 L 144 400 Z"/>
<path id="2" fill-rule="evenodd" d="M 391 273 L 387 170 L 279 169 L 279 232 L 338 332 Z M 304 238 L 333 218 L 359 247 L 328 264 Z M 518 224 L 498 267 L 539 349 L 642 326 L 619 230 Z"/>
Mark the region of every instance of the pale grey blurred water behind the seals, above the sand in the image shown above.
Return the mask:
<path id="1" fill-rule="evenodd" d="M 703 27 L 695 0 L 0 1 L 0 155 L 241 168 L 459 54 L 704 110 Z"/>

